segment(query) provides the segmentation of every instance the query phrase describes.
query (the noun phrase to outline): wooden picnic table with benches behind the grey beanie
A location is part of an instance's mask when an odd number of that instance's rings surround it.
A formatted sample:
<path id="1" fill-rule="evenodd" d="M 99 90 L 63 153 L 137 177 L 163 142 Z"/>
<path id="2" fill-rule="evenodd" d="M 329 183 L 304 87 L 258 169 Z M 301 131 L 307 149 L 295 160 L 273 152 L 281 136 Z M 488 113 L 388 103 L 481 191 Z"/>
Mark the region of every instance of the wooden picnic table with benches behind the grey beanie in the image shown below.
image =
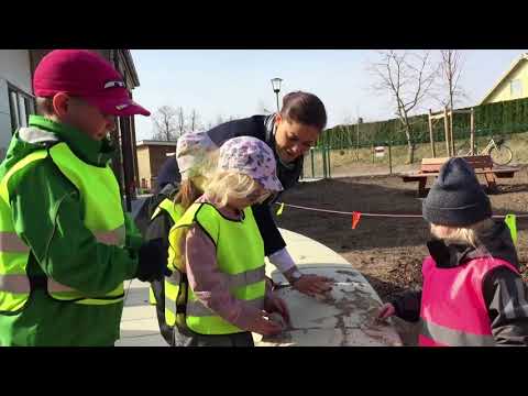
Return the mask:
<path id="1" fill-rule="evenodd" d="M 520 170 L 517 166 L 496 166 L 490 155 L 472 155 L 463 156 L 465 161 L 473 167 L 476 175 L 484 175 L 488 193 L 497 191 L 497 178 L 512 178 L 515 173 Z M 418 183 L 418 197 L 426 197 L 426 184 L 429 177 L 438 176 L 441 166 L 449 157 L 443 158 L 424 158 L 418 172 L 400 174 L 404 183 Z"/>

